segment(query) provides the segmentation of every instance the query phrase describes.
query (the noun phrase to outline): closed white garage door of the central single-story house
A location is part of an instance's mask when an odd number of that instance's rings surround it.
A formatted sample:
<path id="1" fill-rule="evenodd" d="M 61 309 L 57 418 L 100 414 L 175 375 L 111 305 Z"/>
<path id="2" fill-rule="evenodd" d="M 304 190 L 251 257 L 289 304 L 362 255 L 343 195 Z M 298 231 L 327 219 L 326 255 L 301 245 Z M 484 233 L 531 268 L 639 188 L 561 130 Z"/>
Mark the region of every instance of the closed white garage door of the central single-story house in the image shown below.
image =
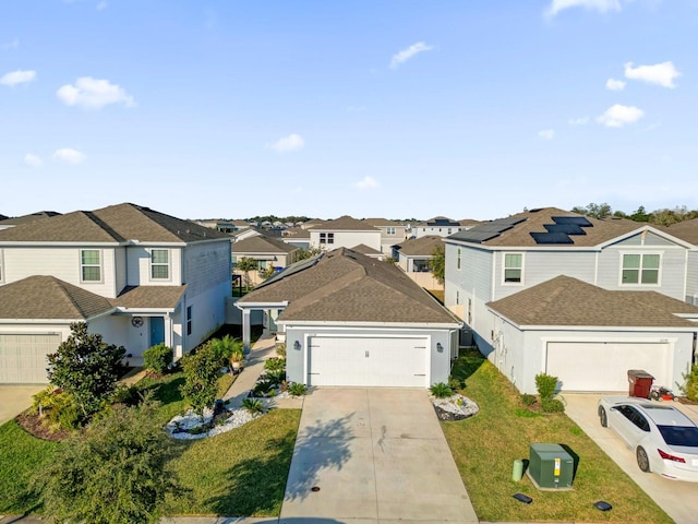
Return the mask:
<path id="1" fill-rule="evenodd" d="M 309 385 L 425 388 L 425 338 L 314 336 Z"/>

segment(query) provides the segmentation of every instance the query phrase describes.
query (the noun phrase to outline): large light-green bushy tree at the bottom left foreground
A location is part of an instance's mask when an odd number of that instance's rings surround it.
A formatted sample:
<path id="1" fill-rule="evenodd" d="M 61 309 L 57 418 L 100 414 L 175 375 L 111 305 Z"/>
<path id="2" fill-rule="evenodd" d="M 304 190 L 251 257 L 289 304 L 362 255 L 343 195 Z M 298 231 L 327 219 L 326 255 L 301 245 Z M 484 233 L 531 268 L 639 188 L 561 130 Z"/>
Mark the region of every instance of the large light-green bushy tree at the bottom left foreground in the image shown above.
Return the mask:
<path id="1" fill-rule="evenodd" d="M 167 493 L 183 495 L 166 467 L 171 443 L 157 404 L 115 406 L 113 412 L 60 446 L 34 480 L 44 511 L 57 522 L 158 522 Z"/>

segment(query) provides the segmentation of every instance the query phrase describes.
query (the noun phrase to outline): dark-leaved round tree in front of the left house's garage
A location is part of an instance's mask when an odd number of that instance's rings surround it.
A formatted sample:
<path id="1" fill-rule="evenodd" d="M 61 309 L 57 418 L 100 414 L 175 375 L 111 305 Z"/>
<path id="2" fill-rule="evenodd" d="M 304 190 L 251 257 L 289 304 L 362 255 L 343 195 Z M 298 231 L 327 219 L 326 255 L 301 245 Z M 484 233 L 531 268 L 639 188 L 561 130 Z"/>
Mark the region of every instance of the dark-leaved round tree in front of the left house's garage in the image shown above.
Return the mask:
<path id="1" fill-rule="evenodd" d="M 85 322 L 70 325 L 71 335 L 49 355 L 48 380 L 69 392 L 85 417 L 97 413 L 113 392 L 124 370 L 123 346 L 103 341 L 99 333 L 87 333 Z"/>

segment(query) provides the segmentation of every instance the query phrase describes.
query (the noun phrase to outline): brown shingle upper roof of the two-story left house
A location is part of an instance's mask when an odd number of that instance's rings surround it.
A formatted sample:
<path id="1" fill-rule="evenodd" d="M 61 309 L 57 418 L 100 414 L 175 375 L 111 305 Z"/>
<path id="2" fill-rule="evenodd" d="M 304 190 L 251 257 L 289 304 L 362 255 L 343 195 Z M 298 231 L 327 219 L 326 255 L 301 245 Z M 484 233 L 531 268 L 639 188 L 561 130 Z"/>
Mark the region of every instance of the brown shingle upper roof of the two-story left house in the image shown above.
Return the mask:
<path id="1" fill-rule="evenodd" d="M 193 222 L 158 213 L 135 204 L 64 215 L 0 230 L 1 241 L 27 242 L 195 242 L 229 238 L 228 235 Z"/>

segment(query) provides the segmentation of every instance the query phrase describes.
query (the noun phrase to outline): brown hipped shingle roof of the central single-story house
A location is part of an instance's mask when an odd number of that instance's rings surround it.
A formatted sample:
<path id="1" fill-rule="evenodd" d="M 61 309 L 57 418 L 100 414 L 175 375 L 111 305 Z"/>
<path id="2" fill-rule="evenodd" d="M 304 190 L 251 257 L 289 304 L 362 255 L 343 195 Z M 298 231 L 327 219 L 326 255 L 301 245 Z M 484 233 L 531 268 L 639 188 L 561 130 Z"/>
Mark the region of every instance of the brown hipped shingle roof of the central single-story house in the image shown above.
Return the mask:
<path id="1" fill-rule="evenodd" d="M 288 301 L 279 315 L 286 321 L 460 324 L 399 269 L 346 248 L 282 275 L 239 303 Z"/>

